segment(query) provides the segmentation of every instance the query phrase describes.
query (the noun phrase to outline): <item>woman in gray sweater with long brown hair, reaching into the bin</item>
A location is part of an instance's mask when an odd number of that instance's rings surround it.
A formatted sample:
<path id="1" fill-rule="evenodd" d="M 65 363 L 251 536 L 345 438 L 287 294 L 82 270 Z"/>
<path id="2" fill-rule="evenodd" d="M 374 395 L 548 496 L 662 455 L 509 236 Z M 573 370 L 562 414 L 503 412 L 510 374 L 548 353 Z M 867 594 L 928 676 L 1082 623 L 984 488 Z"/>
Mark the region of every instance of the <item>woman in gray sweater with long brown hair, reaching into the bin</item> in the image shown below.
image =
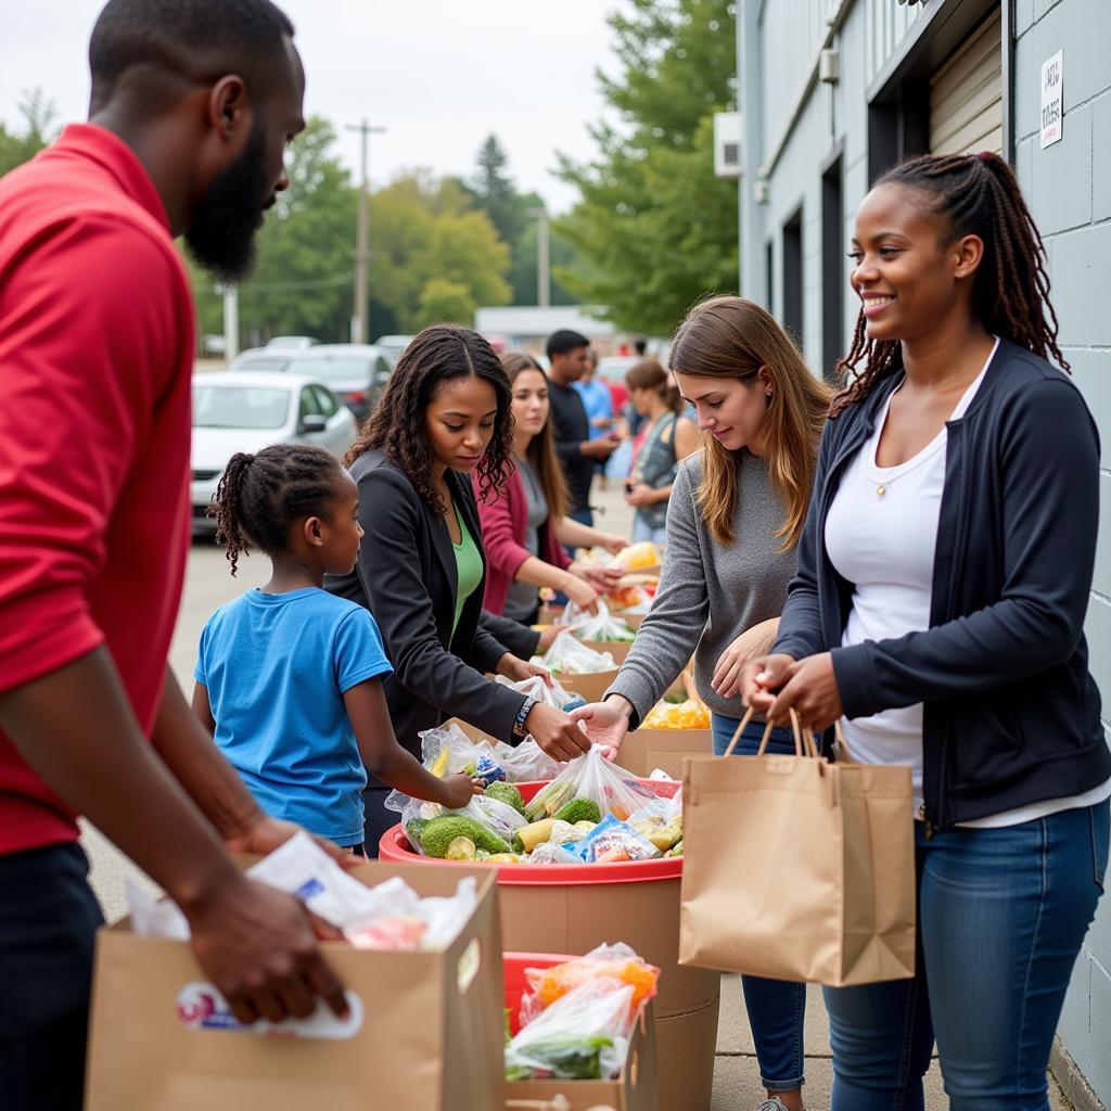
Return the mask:
<path id="1" fill-rule="evenodd" d="M 592 740 L 619 747 L 693 654 L 721 754 L 743 713 L 741 669 L 775 639 L 832 393 L 779 324 L 737 297 L 691 310 L 675 332 L 671 366 L 705 444 L 675 476 L 652 610 L 603 701 L 573 717 Z M 734 751 L 754 754 L 763 728 L 751 724 Z M 769 749 L 793 752 L 790 732 L 775 730 Z M 768 1090 L 759 1111 L 801 1111 L 805 989 L 758 977 L 742 982 Z"/>

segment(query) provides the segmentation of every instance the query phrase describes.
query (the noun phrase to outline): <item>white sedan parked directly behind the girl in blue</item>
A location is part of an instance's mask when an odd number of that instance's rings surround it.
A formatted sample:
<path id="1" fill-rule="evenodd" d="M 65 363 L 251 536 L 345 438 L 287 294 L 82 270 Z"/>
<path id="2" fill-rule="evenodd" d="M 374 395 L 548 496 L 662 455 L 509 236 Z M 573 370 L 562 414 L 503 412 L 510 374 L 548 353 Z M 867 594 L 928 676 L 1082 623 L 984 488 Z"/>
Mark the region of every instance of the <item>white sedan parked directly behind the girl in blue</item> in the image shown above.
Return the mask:
<path id="1" fill-rule="evenodd" d="M 208 508 L 228 460 L 271 443 L 314 443 L 341 458 L 358 426 L 323 382 L 264 370 L 228 370 L 193 378 L 193 532 L 216 531 Z"/>

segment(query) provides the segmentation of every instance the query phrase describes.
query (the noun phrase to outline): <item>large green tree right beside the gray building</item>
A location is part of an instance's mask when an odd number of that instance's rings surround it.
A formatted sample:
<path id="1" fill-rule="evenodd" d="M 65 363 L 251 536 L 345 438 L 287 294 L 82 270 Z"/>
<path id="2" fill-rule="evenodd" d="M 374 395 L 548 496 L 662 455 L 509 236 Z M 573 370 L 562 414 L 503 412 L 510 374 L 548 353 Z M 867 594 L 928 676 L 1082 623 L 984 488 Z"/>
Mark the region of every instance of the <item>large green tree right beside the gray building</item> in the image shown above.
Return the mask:
<path id="1" fill-rule="evenodd" d="M 731 0 L 630 0 L 610 17 L 620 73 L 599 73 L 617 126 L 589 163 L 560 159 L 580 201 L 557 226 L 578 271 L 557 277 L 630 331 L 662 336 L 709 292 L 737 288 L 737 183 L 713 174 L 713 113 L 735 96 Z"/>

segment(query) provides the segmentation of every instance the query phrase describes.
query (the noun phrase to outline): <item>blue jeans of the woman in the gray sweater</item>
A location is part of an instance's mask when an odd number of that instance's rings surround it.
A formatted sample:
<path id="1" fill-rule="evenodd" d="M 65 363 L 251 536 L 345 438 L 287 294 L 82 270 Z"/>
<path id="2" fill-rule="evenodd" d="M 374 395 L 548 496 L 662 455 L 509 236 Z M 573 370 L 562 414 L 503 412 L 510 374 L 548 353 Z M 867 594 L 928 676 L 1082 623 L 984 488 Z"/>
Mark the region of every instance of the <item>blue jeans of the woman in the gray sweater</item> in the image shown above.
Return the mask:
<path id="1" fill-rule="evenodd" d="M 740 724 L 738 718 L 715 713 L 710 725 L 714 755 L 723 755 Z M 734 757 L 754 757 L 763 737 L 762 722 L 750 724 L 733 749 Z M 794 738 L 789 729 L 773 729 L 768 751 L 793 753 Z M 800 833 L 801 835 L 801 833 Z M 743 898 L 743 891 L 739 892 Z M 742 975 L 744 1010 L 748 1011 L 752 1041 L 760 1063 L 760 1083 L 770 1092 L 792 1092 L 801 1088 L 805 1068 L 802 1044 L 803 1020 L 807 1013 L 807 985 L 785 980 Z"/>

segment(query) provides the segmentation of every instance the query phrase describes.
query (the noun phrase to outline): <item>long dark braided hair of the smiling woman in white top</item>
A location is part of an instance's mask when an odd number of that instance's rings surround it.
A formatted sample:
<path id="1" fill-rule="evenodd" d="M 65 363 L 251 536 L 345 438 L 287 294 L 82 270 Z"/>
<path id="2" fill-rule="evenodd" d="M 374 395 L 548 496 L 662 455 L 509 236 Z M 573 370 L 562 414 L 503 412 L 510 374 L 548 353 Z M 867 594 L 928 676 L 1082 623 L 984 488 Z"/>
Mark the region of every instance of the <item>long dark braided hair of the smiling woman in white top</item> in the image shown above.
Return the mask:
<path id="1" fill-rule="evenodd" d="M 930 211 L 949 224 L 949 242 L 961 236 L 983 240 L 983 259 L 977 270 L 972 309 L 983 327 L 1043 359 L 1069 363 L 1057 346 L 1057 313 L 1049 299 L 1045 248 L 1014 172 L 998 154 L 923 154 L 889 170 L 875 183 L 903 186 L 922 193 Z M 863 360 L 864 369 L 858 370 Z M 881 379 L 903 369 L 899 340 L 872 340 L 864 314 L 849 353 L 838 361 L 842 381 L 853 377 L 830 406 L 837 417 L 861 400 Z"/>

